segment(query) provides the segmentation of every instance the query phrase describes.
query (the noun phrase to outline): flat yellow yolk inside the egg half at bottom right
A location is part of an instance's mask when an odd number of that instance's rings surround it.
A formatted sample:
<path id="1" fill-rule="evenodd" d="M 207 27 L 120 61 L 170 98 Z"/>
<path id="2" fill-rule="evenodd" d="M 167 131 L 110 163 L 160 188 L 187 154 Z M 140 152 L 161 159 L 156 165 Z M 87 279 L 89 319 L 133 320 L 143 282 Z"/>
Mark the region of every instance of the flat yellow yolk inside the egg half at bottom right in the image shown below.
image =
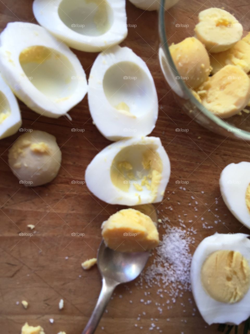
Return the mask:
<path id="1" fill-rule="evenodd" d="M 239 252 L 216 251 L 203 263 L 201 281 L 213 299 L 221 303 L 236 303 L 249 289 L 250 268 Z"/>

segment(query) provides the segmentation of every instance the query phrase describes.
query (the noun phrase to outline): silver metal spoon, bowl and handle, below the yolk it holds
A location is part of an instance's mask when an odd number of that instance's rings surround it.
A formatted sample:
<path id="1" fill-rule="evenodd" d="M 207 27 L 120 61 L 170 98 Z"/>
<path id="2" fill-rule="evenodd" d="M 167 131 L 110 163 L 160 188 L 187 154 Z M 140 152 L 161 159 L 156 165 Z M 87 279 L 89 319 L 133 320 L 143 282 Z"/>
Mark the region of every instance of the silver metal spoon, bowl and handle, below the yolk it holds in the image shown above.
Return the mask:
<path id="1" fill-rule="evenodd" d="M 101 242 L 97 266 L 102 275 L 102 290 L 92 315 L 82 334 L 93 334 L 115 288 L 121 283 L 133 281 L 148 261 L 148 252 L 121 253 L 108 248 Z"/>

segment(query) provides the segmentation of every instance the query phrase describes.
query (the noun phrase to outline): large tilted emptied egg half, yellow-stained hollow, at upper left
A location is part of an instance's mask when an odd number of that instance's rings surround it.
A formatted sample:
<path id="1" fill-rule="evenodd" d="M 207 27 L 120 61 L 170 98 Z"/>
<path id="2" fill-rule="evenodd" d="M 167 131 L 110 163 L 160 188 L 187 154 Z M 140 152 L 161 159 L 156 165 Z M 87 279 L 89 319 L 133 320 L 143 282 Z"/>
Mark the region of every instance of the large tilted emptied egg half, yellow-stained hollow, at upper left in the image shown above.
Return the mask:
<path id="1" fill-rule="evenodd" d="M 87 92 L 77 56 L 37 24 L 7 24 L 0 34 L 0 70 L 14 94 L 44 116 L 66 114 Z"/>

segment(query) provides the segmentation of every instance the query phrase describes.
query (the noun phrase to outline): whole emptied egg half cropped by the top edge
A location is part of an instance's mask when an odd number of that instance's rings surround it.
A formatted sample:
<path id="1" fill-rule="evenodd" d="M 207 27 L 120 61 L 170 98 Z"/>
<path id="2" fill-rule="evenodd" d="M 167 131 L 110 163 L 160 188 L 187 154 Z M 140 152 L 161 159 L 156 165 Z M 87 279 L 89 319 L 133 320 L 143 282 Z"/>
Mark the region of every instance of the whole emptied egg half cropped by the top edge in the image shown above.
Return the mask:
<path id="1" fill-rule="evenodd" d="M 35 0 L 37 21 L 77 50 L 96 52 L 126 38 L 125 0 Z"/>

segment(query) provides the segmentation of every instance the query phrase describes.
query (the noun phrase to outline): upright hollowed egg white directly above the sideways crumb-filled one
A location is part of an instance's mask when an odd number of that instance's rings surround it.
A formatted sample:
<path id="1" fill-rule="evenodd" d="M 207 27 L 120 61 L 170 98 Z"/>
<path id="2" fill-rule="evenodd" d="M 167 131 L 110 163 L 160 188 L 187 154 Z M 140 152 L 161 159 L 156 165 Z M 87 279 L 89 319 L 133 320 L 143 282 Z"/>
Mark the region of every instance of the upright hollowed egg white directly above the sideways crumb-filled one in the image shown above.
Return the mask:
<path id="1" fill-rule="evenodd" d="M 100 53 L 91 68 L 89 110 L 104 137 L 146 136 L 155 127 L 158 98 L 146 63 L 130 48 Z"/>

